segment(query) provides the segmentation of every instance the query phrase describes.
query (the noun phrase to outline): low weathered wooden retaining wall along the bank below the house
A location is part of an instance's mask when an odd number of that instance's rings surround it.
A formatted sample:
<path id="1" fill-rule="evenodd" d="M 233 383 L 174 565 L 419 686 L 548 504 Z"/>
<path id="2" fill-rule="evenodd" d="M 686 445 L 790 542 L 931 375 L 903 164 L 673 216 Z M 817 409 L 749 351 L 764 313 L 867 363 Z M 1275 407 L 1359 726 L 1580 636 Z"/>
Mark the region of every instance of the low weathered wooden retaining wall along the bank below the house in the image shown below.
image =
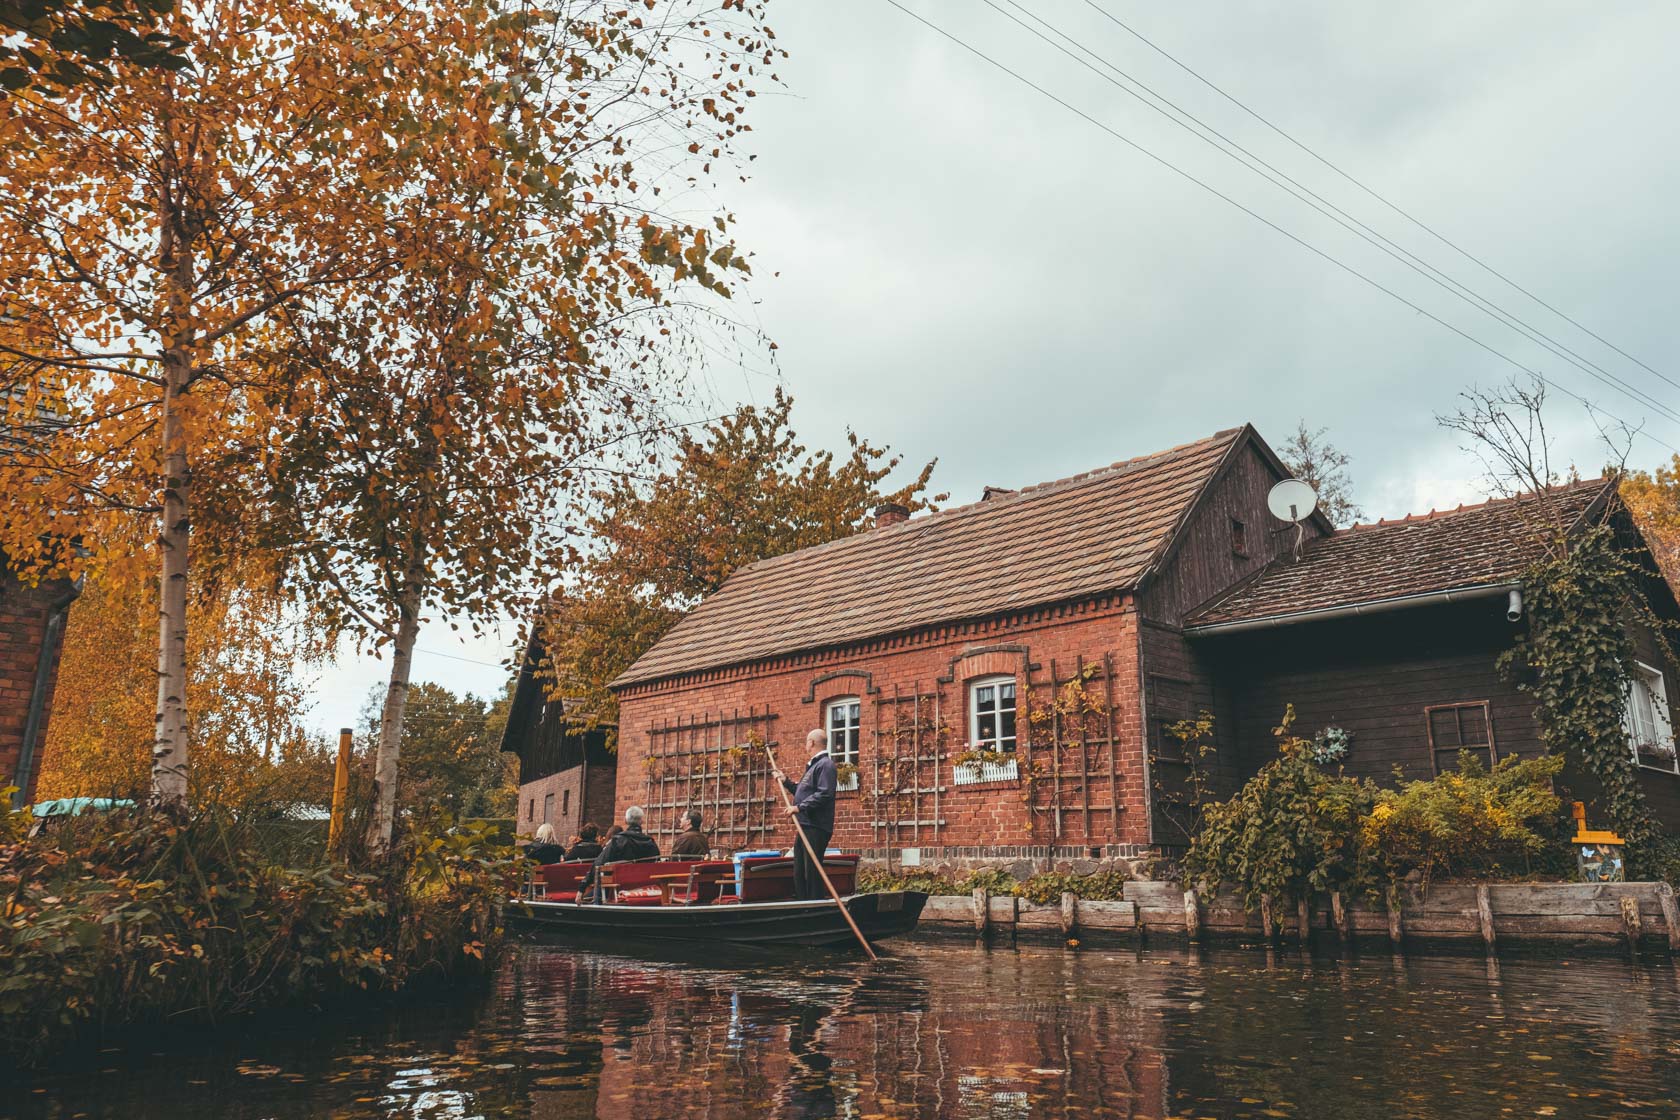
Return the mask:
<path id="1" fill-rule="evenodd" d="M 1312 905 L 1262 900 L 1250 913 L 1231 892 L 1201 895 L 1176 883 L 1126 883 L 1119 902 L 1063 895 L 1038 905 L 1013 895 L 927 900 L 922 925 L 1023 937 L 1137 937 L 1176 940 L 1302 940 L 1500 945 L 1665 947 L 1680 952 L 1680 908 L 1668 883 L 1452 883 L 1408 885 L 1389 903 L 1319 898 Z"/>

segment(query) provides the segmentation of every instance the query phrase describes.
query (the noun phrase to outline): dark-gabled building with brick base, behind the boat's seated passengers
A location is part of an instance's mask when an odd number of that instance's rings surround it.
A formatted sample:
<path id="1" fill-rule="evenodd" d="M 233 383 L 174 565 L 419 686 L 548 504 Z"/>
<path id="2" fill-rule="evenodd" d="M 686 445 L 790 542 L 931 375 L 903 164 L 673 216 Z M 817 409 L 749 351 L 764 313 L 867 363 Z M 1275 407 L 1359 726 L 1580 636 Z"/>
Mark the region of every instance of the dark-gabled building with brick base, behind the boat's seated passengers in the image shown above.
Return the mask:
<path id="1" fill-rule="evenodd" d="M 533 641 L 514 685 L 502 751 L 519 756 L 517 831 L 531 835 L 546 821 L 564 841 L 583 824 L 605 830 L 613 823 L 618 761 L 606 749 L 608 729 L 576 725 L 566 717 L 575 702 L 546 695 L 536 675 L 539 660 Z"/>

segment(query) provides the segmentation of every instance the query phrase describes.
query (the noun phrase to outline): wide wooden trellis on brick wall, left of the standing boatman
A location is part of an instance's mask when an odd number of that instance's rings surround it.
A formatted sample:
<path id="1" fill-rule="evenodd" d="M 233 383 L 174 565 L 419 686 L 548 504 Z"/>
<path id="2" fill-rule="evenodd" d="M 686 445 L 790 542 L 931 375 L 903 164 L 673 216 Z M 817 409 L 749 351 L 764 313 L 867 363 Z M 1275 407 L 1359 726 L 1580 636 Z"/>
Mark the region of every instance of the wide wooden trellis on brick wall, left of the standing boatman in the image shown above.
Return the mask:
<path id="1" fill-rule="evenodd" d="M 702 714 L 647 729 L 643 809 L 647 831 L 674 836 L 677 818 L 699 809 L 717 848 L 756 848 L 774 833 L 774 788 L 764 747 L 774 747 L 776 715 L 749 707 Z"/>

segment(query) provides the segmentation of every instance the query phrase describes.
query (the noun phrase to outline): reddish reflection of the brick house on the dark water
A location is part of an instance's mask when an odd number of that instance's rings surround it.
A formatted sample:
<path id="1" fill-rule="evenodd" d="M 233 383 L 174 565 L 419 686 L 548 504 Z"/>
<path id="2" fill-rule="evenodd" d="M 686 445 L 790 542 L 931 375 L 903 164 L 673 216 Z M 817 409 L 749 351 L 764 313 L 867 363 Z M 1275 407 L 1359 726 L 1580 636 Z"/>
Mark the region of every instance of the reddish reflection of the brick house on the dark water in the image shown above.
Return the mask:
<path id="1" fill-rule="evenodd" d="M 1062 967 L 1048 954 L 1040 964 Z M 529 1115 L 1013 1120 L 1060 1115 L 1063 1102 L 1080 1115 L 1164 1115 L 1154 999 L 1045 992 L 983 1007 L 984 982 L 932 971 L 899 959 L 796 979 L 786 959 L 748 972 L 529 954 L 514 977 L 522 1029 L 538 1039 Z M 1161 976 L 1149 982 L 1164 989 Z"/>

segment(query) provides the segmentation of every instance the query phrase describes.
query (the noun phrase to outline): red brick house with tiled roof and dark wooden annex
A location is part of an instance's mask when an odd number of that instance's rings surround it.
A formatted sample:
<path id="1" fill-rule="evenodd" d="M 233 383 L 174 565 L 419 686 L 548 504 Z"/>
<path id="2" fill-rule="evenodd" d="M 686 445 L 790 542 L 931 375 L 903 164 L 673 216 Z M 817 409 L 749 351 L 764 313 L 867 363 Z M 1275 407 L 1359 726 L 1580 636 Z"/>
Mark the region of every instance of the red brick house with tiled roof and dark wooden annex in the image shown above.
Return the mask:
<path id="1" fill-rule="evenodd" d="M 914 863 L 1131 856 L 1186 841 L 1186 762 L 1166 729 L 1215 715 L 1230 791 L 1297 730 L 1352 732 L 1349 771 L 1428 776 L 1462 747 L 1541 749 L 1495 660 L 1525 620 L 1510 591 L 1537 557 L 1522 500 L 1336 532 L 1267 510 L 1287 470 L 1252 427 L 1220 432 L 736 573 L 613 688 L 617 806 L 655 835 L 706 813 L 722 848 L 791 843 L 771 746 L 796 771 L 825 727 L 842 762 L 835 843 Z M 1611 517 L 1613 480 L 1546 509 Z M 1667 583 L 1653 604 L 1680 616 Z M 1680 821 L 1673 710 L 1653 635 L 1630 751 Z M 1643 746 L 1635 746 L 1635 741 Z"/>

